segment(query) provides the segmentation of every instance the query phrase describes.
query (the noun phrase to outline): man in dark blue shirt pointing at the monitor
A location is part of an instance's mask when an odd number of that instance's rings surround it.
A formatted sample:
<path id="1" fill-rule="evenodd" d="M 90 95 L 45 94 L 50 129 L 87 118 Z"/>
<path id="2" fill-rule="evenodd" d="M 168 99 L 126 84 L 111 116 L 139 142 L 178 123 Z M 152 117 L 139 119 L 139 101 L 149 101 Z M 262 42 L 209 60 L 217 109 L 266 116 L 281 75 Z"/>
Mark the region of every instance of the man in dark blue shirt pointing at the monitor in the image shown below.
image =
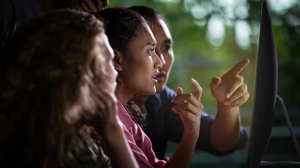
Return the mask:
<path id="1" fill-rule="evenodd" d="M 182 90 L 177 89 L 176 93 L 165 86 L 174 59 L 171 48 L 172 38 L 166 21 L 160 13 L 145 6 L 133 6 L 131 9 L 138 11 L 151 25 L 154 25 L 151 30 L 157 42 L 155 53 L 163 63 L 159 75 L 155 78 L 158 81 L 156 94 L 148 97 L 141 95 L 134 97 L 136 104 L 146 114 L 148 125 L 143 128 L 143 131 L 151 140 L 156 157 L 163 160 L 167 141 L 180 143 L 184 132 L 179 115 L 171 109 L 175 105 L 171 99 L 177 93 L 182 94 Z M 209 116 L 202 112 L 196 149 L 222 156 L 245 148 L 247 131 L 240 125 L 238 106 L 243 104 L 249 95 L 242 77 L 237 74 L 248 63 L 248 60 L 243 60 L 221 78 L 212 79 L 210 87 L 212 95 L 218 102 L 217 114 Z M 230 84 L 224 87 L 228 83 Z M 225 96 L 229 90 L 229 97 Z M 226 102 L 227 100 L 229 102 Z"/>

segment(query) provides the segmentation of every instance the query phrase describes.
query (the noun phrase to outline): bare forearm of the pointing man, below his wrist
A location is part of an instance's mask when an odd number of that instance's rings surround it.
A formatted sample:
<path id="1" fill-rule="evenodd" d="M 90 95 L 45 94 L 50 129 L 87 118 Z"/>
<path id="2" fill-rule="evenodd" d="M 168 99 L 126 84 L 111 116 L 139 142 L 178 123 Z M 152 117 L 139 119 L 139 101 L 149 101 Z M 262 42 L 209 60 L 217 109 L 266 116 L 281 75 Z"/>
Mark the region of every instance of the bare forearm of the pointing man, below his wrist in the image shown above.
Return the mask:
<path id="1" fill-rule="evenodd" d="M 210 127 L 210 143 L 219 152 L 233 148 L 240 137 L 238 107 L 217 103 L 217 113 Z"/>

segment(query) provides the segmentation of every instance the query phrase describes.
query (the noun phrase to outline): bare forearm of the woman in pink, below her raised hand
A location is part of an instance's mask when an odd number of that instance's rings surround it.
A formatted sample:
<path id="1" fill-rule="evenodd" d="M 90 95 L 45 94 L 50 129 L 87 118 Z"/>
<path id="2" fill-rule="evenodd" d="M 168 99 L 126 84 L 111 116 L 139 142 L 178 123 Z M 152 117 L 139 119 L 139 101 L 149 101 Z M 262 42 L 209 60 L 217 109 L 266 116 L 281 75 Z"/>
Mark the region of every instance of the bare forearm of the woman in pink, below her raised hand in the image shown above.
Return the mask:
<path id="1" fill-rule="evenodd" d="M 163 168 L 188 168 L 198 139 L 197 135 L 183 133 L 177 150 Z"/>

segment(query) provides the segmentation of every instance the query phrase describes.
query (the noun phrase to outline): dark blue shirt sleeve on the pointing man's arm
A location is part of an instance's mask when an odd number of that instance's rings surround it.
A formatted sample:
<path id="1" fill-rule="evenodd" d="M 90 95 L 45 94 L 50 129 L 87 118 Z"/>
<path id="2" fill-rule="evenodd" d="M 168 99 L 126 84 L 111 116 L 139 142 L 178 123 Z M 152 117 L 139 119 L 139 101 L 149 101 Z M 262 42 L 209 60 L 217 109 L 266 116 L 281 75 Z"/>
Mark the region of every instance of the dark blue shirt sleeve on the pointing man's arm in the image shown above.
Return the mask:
<path id="1" fill-rule="evenodd" d="M 169 93 L 167 95 L 174 96 L 176 93 Z M 168 97 L 169 102 L 173 97 Z M 165 113 L 165 135 L 168 141 L 172 141 L 175 143 L 180 143 L 183 132 L 184 126 L 183 123 L 176 113 L 171 110 L 171 107 L 174 106 L 174 103 L 168 103 L 165 106 L 164 113 Z M 212 147 L 210 144 L 210 125 L 214 120 L 214 116 L 210 116 L 205 112 L 202 112 L 201 115 L 201 123 L 200 123 L 200 131 L 199 131 L 199 138 L 196 143 L 195 149 L 201 150 L 216 156 L 228 155 L 233 153 L 236 150 L 244 149 L 248 134 L 245 128 L 240 127 L 240 138 L 236 145 L 225 152 L 218 152 L 216 149 Z"/>

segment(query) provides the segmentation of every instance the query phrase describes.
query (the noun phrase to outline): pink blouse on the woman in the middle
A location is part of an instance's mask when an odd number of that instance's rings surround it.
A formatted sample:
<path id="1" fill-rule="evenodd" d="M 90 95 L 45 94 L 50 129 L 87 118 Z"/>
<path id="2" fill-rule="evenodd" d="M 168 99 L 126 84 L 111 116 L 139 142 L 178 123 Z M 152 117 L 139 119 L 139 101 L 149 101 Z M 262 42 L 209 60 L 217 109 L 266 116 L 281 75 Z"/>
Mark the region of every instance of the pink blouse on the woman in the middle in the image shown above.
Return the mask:
<path id="1" fill-rule="evenodd" d="M 118 101 L 118 117 L 123 124 L 127 141 L 140 168 L 162 168 L 166 162 L 158 160 L 152 150 L 149 138 L 138 124 L 135 124 L 123 105 Z"/>

